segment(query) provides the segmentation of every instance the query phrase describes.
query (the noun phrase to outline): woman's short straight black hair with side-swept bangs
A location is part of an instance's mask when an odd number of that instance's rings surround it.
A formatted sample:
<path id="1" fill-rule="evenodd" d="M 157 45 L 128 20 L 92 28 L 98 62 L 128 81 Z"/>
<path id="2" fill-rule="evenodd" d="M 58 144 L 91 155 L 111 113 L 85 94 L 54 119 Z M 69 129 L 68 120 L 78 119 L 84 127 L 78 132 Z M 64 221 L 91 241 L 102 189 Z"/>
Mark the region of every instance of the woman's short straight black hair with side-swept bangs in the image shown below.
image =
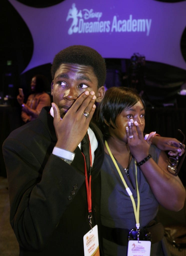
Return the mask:
<path id="1" fill-rule="evenodd" d="M 111 87 L 105 92 L 104 98 L 100 102 L 97 110 L 97 121 L 105 140 L 110 136 L 109 126 L 114 128 L 111 122 L 116 125 L 117 116 L 124 109 L 134 106 L 139 100 L 141 100 L 145 108 L 144 99 L 141 98 L 134 88 Z"/>

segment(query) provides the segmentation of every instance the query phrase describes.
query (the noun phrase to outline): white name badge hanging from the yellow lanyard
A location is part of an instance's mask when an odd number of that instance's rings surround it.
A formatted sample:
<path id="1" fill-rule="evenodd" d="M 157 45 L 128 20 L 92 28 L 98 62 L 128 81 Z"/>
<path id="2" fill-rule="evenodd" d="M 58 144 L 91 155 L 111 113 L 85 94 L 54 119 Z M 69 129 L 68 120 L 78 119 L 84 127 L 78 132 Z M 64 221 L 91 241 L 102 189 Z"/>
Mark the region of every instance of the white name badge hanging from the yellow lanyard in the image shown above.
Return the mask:
<path id="1" fill-rule="evenodd" d="M 130 240 L 127 256 L 150 256 L 150 241 Z"/>

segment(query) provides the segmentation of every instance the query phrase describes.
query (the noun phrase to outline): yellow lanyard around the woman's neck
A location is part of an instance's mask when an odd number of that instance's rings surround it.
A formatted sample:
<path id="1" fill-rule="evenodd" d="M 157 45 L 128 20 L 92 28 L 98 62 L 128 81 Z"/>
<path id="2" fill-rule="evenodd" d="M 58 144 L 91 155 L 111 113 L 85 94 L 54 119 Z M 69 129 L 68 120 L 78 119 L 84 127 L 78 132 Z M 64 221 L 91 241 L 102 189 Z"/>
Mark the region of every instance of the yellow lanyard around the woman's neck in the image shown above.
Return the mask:
<path id="1" fill-rule="evenodd" d="M 135 216 L 135 220 L 136 220 L 136 228 L 139 229 L 139 205 L 140 205 L 140 197 L 139 197 L 139 189 L 138 189 L 138 182 L 137 182 L 137 165 L 136 165 L 136 159 L 135 159 L 135 169 L 136 169 L 136 190 L 137 190 L 137 200 L 138 200 L 138 202 L 137 202 L 137 208 L 136 208 L 136 204 L 135 204 L 135 201 L 134 201 L 133 194 L 132 194 L 130 188 L 127 186 L 127 183 L 125 182 L 125 179 L 123 178 L 123 175 L 122 175 L 122 173 L 121 173 L 121 171 L 120 171 L 120 169 L 119 169 L 119 167 L 118 167 L 118 165 L 117 165 L 117 163 L 116 163 L 116 161 L 115 161 L 115 159 L 114 159 L 114 156 L 113 156 L 112 152 L 110 151 L 110 148 L 109 148 L 109 146 L 108 146 L 107 141 L 105 141 L 105 146 L 106 146 L 106 148 L 107 148 L 107 150 L 108 150 L 108 153 L 110 154 L 110 157 L 112 158 L 112 161 L 113 161 L 113 163 L 114 163 L 114 165 L 115 165 L 115 167 L 116 167 L 116 169 L 117 169 L 117 171 L 118 171 L 118 174 L 119 174 L 119 176 L 120 176 L 120 178 L 121 178 L 121 180 L 122 180 L 122 182 L 123 182 L 123 184 L 124 184 L 124 186 L 125 186 L 125 189 L 126 189 L 128 195 L 130 196 L 130 199 L 131 199 L 132 204 L 133 204 L 133 209 L 134 209 L 134 216 Z"/>

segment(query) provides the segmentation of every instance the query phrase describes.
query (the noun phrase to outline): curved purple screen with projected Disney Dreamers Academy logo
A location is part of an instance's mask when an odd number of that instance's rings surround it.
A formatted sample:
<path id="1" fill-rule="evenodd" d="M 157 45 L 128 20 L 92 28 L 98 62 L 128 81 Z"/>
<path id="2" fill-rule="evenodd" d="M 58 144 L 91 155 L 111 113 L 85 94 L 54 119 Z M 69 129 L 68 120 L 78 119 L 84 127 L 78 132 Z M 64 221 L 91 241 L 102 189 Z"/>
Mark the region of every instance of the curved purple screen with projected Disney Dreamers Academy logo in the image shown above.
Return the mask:
<path id="1" fill-rule="evenodd" d="M 148 61 L 186 70 L 180 40 L 186 27 L 186 1 L 71 1 L 33 8 L 9 0 L 25 20 L 34 41 L 27 71 L 53 61 L 74 44 L 96 49 L 104 58 L 129 59 L 134 53 Z"/>

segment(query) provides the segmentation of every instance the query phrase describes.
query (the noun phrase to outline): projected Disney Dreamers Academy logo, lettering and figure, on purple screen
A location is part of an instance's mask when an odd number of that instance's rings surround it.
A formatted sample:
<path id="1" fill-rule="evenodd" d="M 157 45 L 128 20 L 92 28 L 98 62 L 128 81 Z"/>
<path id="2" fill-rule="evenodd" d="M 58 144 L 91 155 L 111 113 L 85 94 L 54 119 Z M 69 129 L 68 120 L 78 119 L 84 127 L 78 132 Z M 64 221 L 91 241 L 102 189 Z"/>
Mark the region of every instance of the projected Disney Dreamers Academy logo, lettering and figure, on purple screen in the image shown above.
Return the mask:
<path id="1" fill-rule="evenodd" d="M 113 16 L 111 20 L 100 21 L 102 12 L 94 12 L 93 9 L 78 10 L 75 3 L 69 9 L 66 21 L 72 19 L 68 34 L 73 33 L 109 33 L 109 32 L 146 32 L 149 36 L 152 19 L 133 19 L 132 14 L 129 19 L 117 19 Z M 94 21 L 86 21 L 94 19 Z M 96 19 L 96 21 L 95 21 Z"/>

